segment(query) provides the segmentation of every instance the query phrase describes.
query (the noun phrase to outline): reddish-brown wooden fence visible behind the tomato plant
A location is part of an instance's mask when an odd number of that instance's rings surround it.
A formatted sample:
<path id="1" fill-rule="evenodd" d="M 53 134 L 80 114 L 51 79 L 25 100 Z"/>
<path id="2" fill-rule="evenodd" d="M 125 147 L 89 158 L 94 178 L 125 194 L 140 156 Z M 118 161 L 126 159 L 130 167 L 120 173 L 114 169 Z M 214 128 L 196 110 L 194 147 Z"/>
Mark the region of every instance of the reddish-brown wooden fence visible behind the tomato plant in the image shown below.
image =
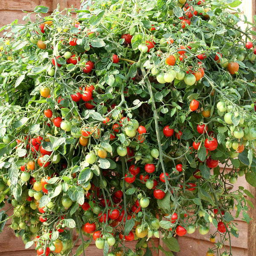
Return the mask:
<path id="1" fill-rule="evenodd" d="M 0 27 L 11 23 L 15 19 L 18 19 L 18 23 L 24 23 L 22 18 L 26 13 L 21 10 L 32 12 L 35 6 L 47 6 L 49 7 L 49 13 L 46 15 L 49 15 L 56 8 L 58 3 L 60 4 L 60 9 L 64 9 L 64 7 L 69 8 L 72 5 L 75 8 L 79 8 L 80 2 L 80 0 L 0 0 Z M 243 6 L 245 15 L 248 17 L 248 20 L 252 21 L 253 15 L 256 13 L 256 0 L 243 0 Z M 244 177 L 239 177 L 235 189 L 237 189 L 238 186 L 243 186 L 245 189 L 248 189 L 256 197 L 256 189 L 250 187 Z M 253 201 L 253 204 L 256 206 L 256 199 L 252 200 L 250 198 L 250 200 Z M 231 237 L 233 256 L 256 255 L 256 210 L 249 208 L 249 214 L 253 218 L 250 225 L 236 219 L 239 228 L 239 238 Z M 35 250 L 33 248 L 25 250 L 23 241 L 18 239 L 14 232 L 8 228 L 9 225 L 10 221 L 7 222 L 3 233 L 0 234 L 0 256 L 11 256 L 12 254 L 18 256 L 35 256 Z M 208 248 L 213 246 L 213 244 L 209 242 L 209 236 L 201 236 L 198 232 L 179 237 L 178 240 L 181 251 L 176 253 L 176 256 L 204 256 Z M 153 241 L 156 247 L 158 244 L 164 247 L 161 240 L 154 239 Z M 218 241 L 218 237 L 216 241 Z M 130 246 L 134 248 L 135 242 L 130 242 Z M 90 253 L 94 256 L 102 256 L 102 250 L 97 249 L 94 244 L 91 244 L 87 248 L 87 255 L 90 255 Z M 156 255 L 157 253 L 154 252 L 153 256 Z M 159 255 L 163 256 L 161 252 Z"/>

